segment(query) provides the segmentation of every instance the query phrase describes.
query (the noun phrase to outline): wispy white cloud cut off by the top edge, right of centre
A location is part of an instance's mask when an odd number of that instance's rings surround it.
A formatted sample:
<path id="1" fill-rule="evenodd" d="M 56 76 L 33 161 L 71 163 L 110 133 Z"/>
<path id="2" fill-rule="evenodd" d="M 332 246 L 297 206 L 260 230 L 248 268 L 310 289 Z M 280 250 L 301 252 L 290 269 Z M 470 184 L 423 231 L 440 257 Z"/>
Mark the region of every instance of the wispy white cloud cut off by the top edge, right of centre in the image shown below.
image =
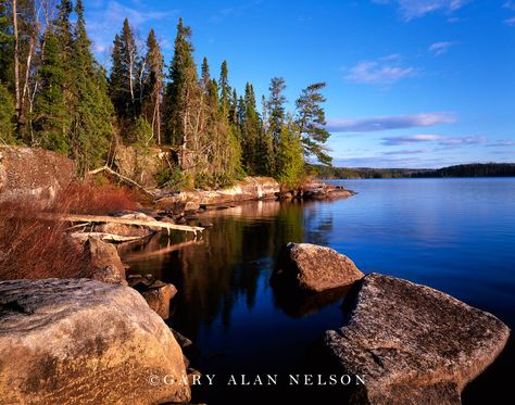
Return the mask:
<path id="1" fill-rule="evenodd" d="M 399 8 L 405 21 L 422 17 L 426 14 L 442 12 L 452 13 L 469 2 L 469 0 L 373 0 L 374 3 L 391 4 Z"/>

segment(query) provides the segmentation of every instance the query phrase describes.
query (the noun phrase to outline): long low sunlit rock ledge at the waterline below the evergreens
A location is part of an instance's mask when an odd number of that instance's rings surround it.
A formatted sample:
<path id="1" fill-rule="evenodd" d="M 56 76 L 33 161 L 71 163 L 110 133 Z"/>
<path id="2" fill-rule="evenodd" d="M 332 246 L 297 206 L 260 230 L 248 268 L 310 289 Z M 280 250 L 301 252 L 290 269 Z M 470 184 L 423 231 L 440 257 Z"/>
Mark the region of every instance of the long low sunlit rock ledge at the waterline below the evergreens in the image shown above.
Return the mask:
<path id="1" fill-rule="evenodd" d="M 228 202 L 275 199 L 279 183 L 269 177 L 246 177 L 236 186 L 223 190 L 181 191 L 156 201 L 161 210 L 174 210 L 177 204 L 224 204 Z"/>

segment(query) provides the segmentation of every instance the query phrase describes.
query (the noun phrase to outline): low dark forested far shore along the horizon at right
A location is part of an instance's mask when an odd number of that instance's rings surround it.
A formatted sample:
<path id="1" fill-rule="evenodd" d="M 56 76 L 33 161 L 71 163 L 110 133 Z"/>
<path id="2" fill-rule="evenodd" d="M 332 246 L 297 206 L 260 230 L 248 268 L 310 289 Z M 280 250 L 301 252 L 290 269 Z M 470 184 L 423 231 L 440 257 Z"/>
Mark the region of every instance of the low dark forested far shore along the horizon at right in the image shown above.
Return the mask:
<path id="1" fill-rule="evenodd" d="M 319 178 L 423 178 L 423 177 L 514 177 L 515 163 L 473 163 L 429 168 L 324 167 L 311 165 L 310 173 Z"/>

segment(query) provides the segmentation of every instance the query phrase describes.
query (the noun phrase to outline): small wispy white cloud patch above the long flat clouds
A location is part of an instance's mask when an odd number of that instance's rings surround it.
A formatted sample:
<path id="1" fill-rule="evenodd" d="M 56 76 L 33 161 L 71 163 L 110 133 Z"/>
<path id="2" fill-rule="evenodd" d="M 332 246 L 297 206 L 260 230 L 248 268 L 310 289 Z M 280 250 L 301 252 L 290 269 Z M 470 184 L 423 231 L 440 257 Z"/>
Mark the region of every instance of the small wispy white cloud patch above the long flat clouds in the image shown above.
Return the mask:
<path id="1" fill-rule="evenodd" d="M 359 84 L 392 85 L 419 73 L 415 67 L 403 66 L 400 60 L 399 54 L 392 54 L 377 61 L 360 62 L 349 69 L 346 79 Z"/>

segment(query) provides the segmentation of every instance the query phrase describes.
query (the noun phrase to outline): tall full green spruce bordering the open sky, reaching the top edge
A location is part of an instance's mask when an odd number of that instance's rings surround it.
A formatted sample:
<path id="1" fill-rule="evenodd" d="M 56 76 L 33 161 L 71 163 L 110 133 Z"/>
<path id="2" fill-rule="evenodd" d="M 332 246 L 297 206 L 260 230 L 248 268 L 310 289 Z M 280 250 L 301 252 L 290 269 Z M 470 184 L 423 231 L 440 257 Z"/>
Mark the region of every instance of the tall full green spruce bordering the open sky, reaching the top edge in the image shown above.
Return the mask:
<path id="1" fill-rule="evenodd" d="M 79 173 L 105 162 L 113 128 L 113 106 L 106 93 L 103 71 L 97 65 L 86 33 L 84 7 L 77 0 L 77 23 L 73 37 L 73 124 L 72 155 L 77 161 Z"/>

